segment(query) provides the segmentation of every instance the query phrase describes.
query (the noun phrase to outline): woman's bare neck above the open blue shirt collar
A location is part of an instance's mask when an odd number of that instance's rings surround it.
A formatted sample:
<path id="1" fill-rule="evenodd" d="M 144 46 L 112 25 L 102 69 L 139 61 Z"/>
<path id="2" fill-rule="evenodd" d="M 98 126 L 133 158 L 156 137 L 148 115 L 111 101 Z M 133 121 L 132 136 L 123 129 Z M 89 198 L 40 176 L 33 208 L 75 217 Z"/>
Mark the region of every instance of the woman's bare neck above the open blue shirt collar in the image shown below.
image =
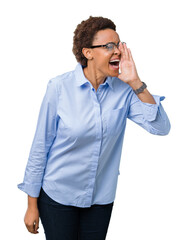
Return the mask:
<path id="1" fill-rule="evenodd" d="M 102 76 L 99 72 L 97 72 L 96 68 L 91 66 L 90 64 L 87 65 L 83 69 L 85 77 L 91 82 L 92 86 L 97 91 L 100 84 L 104 83 L 106 77 Z"/>

